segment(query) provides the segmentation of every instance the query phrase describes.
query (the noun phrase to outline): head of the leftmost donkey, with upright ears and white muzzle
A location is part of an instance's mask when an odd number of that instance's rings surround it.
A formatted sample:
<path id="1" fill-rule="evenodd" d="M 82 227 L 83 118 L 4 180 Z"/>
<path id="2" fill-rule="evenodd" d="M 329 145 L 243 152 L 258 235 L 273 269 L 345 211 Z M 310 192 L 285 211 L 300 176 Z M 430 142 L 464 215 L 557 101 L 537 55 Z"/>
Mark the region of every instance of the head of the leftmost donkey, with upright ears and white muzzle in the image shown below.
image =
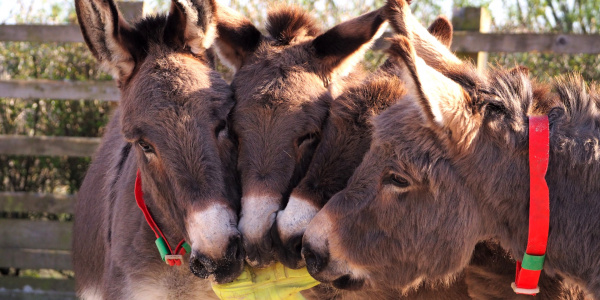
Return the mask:
<path id="1" fill-rule="evenodd" d="M 168 17 L 135 25 L 111 0 L 77 0 L 76 8 L 88 47 L 119 83 L 122 134 L 151 213 L 189 242 L 195 275 L 232 280 L 243 266 L 236 152 L 226 123 L 234 99 L 206 53 L 215 2 L 173 1 Z"/>

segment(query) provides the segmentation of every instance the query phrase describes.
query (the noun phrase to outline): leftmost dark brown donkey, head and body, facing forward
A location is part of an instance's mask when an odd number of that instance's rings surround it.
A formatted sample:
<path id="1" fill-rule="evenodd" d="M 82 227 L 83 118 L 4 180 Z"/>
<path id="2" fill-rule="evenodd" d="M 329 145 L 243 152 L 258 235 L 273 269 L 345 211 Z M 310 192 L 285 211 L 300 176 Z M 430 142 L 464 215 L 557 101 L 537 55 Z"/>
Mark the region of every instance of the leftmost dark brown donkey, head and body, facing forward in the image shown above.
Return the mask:
<path id="1" fill-rule="evenodd" d="M 86 43 L 122 94 L 75 208 L 78 295 L 215 297 L 196 276 L 228 282 L 243 266 L 235 144 L 226 123 L 234 99 L 205 50 L 216 32 L 216 5 L 177 0 L 168 17 L 131 26 L 113 1 L 75 3 Z M 168 243 L 191 245 L 183 266 L 168 266 L 159 255 L 134 198 L 138 170 Z"/>

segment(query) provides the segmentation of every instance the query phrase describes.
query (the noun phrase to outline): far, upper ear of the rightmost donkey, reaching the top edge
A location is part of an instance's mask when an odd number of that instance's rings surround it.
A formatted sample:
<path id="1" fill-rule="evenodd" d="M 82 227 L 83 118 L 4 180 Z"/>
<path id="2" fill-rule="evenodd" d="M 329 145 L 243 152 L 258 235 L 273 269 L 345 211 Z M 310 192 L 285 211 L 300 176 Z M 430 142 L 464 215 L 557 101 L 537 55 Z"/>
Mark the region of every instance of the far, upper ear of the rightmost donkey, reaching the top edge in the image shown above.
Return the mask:
<path id="1" fill-rule="evenodd" d="M 447 44 L 451 42 L 451 38 L 440 38 L 447 35 L 452 36 L 452 25 L 449 25 L 449 22 L 444 24 L 447 20 L 444 21 L 438 18 L 434 22 L 436 26 L 434 28 L 430 27 L 433 32 L 436 32 L 432 35 L 412 15 L 409 2 L 406 0 L 388 0 L 384 7 L 384 14 L 394 31 L 407 37 L 414 44 L 419 56 L 434 69 L 445 73 L 453 66 L 462 65 L 462 61 L 447 47 Z M 450 27 L 449 33 L 448 26 Z M 440 33 L 440 30 L 444 33 Z"/>

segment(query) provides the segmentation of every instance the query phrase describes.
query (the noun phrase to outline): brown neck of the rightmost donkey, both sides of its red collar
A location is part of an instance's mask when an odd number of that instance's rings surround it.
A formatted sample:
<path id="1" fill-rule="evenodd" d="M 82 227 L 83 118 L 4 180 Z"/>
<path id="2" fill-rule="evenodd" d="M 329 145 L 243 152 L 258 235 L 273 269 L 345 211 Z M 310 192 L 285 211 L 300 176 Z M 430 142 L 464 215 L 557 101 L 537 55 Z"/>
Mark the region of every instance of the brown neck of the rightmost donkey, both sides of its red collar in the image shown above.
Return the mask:
<path id="1" fill-rule="evenodd" d="M 600 187 L 593 178 L 598 174 L 594 170 L 599 167 L 574 166 L 568 155 L 556 152 L 551 136 L 546 175 L 550 189 L 550 231 L 544 270 L 583 283 L 597 296 L 600 265 L 594 255 L 600 253 L 600 244 L 593 237 L 600 232 L 597 217 Z M 528 153 L 507 151 L 491 144 L 474 153 L 460 166 L 469 172 L 463 170 L 462 174 L 470 174 L 465 182 L 481 210 L 487 234 L 483 238 L 498 239 L 503 248 L 520 260 L 527 246 L 529 224 Z"/>

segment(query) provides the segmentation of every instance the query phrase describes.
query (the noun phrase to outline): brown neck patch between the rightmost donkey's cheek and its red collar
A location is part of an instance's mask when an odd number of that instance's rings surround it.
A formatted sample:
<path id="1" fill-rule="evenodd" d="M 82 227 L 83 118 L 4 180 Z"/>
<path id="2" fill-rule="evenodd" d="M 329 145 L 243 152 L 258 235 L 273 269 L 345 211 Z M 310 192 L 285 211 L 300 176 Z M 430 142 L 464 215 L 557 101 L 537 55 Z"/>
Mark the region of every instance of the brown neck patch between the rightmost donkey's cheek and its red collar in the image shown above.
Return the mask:
<path id="1" fill-rule="evenodd" d="M 483 224 L 482 239 L 494 238 L 517 258 L 527 245 L 529 167 L 527 152 L 482 140 L 457 164 Z M 469 196 L 467 196 L 469 197 Z"/>

